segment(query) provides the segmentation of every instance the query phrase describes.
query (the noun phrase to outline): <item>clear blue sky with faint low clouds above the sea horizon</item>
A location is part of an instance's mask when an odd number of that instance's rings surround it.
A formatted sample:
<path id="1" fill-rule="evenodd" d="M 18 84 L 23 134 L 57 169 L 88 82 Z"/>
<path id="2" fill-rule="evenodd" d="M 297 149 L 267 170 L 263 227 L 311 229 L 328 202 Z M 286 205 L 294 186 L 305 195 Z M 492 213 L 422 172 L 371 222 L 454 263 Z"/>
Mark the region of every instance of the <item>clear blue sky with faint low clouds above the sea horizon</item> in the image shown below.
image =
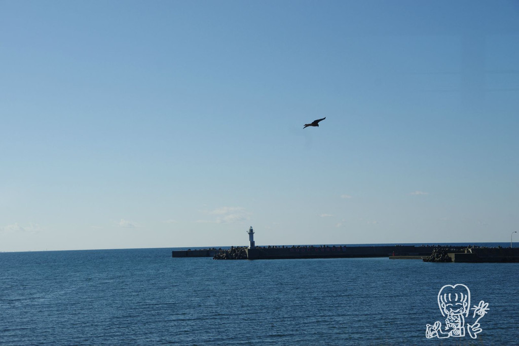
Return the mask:
<path id="1" fill-rule="evenodd" d="M 517 1 L 2 0 L 0 251 L 510 241 L 518 61 Z"/>

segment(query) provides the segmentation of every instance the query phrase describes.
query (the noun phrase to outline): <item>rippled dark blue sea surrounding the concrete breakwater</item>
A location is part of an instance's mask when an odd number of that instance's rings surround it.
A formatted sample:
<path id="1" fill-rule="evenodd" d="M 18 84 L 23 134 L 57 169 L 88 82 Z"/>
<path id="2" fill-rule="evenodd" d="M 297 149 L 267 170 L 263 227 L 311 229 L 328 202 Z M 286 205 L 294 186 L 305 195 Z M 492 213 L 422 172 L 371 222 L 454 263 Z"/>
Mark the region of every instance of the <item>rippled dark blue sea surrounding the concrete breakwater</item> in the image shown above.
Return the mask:
<path id="1" fill-rule="evenodd" d="M 174 249 L 0 253 L 0 345 L 519 344 L 519 263 L 218 261 Z M 449 335 L 438 296 L 457 284 L 470 290 L 463 328 L 479 333 L 427 338 L 436 322 Z"/>

